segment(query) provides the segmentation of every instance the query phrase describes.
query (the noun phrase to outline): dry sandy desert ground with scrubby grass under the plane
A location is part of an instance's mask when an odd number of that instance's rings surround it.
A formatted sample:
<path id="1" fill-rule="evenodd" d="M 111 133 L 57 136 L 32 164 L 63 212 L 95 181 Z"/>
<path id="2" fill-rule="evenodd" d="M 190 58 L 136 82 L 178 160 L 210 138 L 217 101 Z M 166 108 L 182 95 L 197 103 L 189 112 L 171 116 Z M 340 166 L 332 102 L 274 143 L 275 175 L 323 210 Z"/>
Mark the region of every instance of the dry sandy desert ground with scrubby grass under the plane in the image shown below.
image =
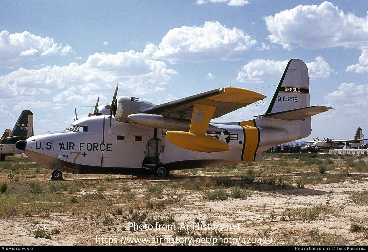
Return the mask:
<path id="1" fill-rule="evenodd" d="M 168 178 L 0 163 L 0 245 L 367 245 L 368 157 L 265 154 Z"/>

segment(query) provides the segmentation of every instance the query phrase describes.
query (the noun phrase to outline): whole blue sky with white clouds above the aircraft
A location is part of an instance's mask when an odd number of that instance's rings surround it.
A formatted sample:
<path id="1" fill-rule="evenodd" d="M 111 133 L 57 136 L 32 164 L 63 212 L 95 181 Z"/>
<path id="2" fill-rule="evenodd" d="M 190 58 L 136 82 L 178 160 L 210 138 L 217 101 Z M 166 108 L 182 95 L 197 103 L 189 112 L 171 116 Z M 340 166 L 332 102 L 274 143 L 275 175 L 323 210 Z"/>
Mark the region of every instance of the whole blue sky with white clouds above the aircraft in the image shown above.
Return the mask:
<path id="1" fill-rule="evenodd" d="M 290 59 L 309 69 L 315 137 L 367 130 L 367 1 L 1 1 L 0 130 L 65 129 L 97 97 L 159 104 L 224 86 L 267 96 L 217 121 L 266 111 Z M 81 107 L 85 107 L 83 109 Z"/>

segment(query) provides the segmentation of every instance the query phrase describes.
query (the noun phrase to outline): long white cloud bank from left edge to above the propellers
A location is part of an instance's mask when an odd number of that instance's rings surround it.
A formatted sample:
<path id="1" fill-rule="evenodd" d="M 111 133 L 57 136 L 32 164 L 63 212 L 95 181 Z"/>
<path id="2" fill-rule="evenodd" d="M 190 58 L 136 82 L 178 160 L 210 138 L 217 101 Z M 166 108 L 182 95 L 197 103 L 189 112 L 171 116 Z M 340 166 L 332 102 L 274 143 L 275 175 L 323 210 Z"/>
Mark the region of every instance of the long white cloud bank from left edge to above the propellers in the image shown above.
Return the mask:
<path id="1" fill-rule="evenodd" d="M 166 63 L 151 59 L 151 52 L 148 45 L 144 52 L 95 53 L 81 65 L 71 63 L 38 70 L 20 68 L 0 77 L 0 92 L 9 98 L 19 98 L 19 95 L 36 95 L 46 90 L 66 91 L 69 87 L 82 92 L 100 91 L 107 84 L 119 83 L 120 88 L 133 94 L 149 94 L 163 90 L 163 84 L 176 74 L 166 68 Z"/>

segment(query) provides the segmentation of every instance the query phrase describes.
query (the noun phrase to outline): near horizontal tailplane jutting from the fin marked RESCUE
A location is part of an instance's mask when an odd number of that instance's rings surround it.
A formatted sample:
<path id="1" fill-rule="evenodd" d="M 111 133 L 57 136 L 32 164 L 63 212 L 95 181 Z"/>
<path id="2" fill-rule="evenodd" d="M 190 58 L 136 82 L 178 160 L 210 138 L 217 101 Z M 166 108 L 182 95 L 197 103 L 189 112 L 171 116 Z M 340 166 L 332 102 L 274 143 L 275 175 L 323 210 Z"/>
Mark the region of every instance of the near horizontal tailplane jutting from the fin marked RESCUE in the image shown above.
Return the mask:
<path id="1" fill-rule="evenodd" d="M 326 107 L 326 106 L 310 106 L 310 107 L 305 107 L 305 108 L 291 109 L 291 110 L 282 111 L 282 112 L 264 114 L 261 116 L 281 119 L 281 120 L 302 120 L 305 118 L 309 118 L 313 115 L 317 115 L 319 113 L 329 111 L 330 109 L 332 108 Z"/>

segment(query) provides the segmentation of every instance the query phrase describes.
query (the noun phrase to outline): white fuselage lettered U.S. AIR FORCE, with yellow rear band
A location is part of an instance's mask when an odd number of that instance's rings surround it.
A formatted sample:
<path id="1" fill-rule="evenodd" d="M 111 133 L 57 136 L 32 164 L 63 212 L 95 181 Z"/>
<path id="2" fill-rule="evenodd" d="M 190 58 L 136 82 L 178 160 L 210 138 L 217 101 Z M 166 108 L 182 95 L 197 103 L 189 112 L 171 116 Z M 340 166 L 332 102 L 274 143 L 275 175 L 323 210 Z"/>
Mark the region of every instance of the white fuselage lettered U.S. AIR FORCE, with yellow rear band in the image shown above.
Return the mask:
<path id="1" fill-rule="evenodd" d="M 166 130 L 133 123 L 121 123 L 109 116 L 93 116 L 74 122 L 76 131 L 32 136 L 26 140 L 25 153 L 48 169 L 74 174 L 151 174 L 153 164 L 163 163 L 170 170 L 245 164 L 260 160 L 270 146 L 283 143 L 291 132 L 254 127 L 251 123 L 276 120 L 258 118 L 247 125 L 214 124 L 223 132 L 208 133 L 229 144 L 229 151 L 198 152 L 171 144 Z M 243 123 L 244 124 L 244 123 Z M 84 130 L 84 131 L 82 131 Z M 263 137 L 260 137 L 263 136 Z M 298 137 L 300 138 L 300 136 Z M 266 139 L 261 141 L 260 139 Z M 151 165 L 152 164 L 152 165 Z"/>

